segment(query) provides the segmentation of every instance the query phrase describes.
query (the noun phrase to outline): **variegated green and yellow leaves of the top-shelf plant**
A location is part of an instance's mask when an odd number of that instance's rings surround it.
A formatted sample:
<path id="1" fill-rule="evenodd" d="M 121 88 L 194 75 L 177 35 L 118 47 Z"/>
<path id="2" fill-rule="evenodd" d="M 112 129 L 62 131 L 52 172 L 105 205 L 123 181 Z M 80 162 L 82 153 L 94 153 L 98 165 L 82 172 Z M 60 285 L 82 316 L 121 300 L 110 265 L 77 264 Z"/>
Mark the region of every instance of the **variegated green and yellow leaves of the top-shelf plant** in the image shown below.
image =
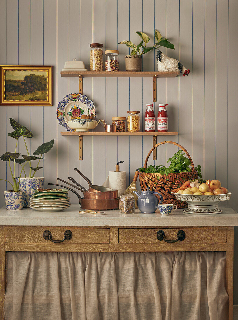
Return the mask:
<path id="1" fill-rule="evenodd" d="M 131 55 L 134 54 L 145 54 L 151 50 L 155 50 L 160 46 L 163 46 L 165 48 L 170 48 L 170 49 L 174 49 L 174 45 L 172 43 L 170 43 L 168 41 L 168 39 L 166 39 L 165 37 L 162 37 L 160 32 L 158 30 L 155 29 L 155 39 L 157 40 L 157 42 L 155 42 L 155 44 L 151 47 L 146 47 L 146 44 L 150 41 L 150 37 L 147 36 L 147 34 L 145 34 L 142 31 L 135 31 L 135 33 L 138 34 L 138 36 L 142 39 L 142 41 L 139 44 L 134 44 L 131 41 L 127 41 L 124 40 L 122 42 L 119 42 L 118 44 L 126 44 L 127 47 L 131 47 L 132 51 L 131 51 Z M 144 42 L 144 44 L 143 44 Z"/>

